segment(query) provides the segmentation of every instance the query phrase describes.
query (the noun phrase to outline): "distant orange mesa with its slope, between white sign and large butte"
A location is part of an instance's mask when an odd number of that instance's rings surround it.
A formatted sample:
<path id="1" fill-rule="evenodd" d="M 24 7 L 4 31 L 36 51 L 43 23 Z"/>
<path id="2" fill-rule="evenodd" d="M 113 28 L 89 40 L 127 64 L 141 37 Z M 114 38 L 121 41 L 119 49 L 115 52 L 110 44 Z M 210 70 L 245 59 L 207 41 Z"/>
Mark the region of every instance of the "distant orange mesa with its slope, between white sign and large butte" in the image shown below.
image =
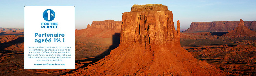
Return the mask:
<path id="1" fill-rule="evenodd" d="M 93 21 L 86 29 L 76 30 L 76 36 L 109 38 L 115 33 L 120 33 L 121 25 L 122 21 Z"/>

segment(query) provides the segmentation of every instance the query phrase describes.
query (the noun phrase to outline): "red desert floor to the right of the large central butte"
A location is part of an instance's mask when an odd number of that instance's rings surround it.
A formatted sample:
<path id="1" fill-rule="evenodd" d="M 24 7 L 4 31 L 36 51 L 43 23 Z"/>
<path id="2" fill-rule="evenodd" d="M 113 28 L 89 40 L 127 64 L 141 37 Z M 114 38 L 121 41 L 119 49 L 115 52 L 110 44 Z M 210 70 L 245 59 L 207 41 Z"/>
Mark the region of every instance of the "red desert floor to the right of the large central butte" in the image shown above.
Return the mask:
<path id="1" fill-rule="evenodd" d="M 237 31 L 237 35 L 234 36 L 223 36 L 228 32 L 183 32 L 181 45 L 195 58 L 222 71 L 233 75 L 255 76 L 256 34 L 243 33 L 243 35 L 240 33 L 244 30 Z"/>

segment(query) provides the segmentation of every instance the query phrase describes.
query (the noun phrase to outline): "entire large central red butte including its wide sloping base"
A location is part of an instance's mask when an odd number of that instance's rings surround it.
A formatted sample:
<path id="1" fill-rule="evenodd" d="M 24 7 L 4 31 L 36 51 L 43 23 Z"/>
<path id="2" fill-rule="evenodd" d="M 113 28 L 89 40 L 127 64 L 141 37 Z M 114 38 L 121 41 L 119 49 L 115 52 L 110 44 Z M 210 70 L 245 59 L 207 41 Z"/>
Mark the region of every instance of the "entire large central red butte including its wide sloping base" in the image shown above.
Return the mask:
<path id="1" fill-rule="evenodd" d="M 180 24 L 162 4 L 133 5 L 122 16 L 120 45 L 108 56 L 66 75 L 229 75 L 180 47 Z"/>

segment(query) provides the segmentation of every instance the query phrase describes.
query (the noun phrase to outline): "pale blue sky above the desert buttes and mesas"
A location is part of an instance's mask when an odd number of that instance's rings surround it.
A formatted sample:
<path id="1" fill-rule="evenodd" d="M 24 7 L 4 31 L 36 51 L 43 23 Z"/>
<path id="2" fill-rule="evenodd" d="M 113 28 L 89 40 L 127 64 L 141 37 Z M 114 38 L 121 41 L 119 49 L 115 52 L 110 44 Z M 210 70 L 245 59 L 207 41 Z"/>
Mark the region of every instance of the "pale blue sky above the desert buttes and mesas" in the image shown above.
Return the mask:
<path id="1" fill-rule="evenodd" d="M 168 6 L 181 29 L 191 22 L 256 20 L 255 0 L 0 0 L 0 27 L 24 28 L 24 5 L 75 5 L 76 29 L 83 29 L 92 21 L 122 20 L 134 4 Z"/>

